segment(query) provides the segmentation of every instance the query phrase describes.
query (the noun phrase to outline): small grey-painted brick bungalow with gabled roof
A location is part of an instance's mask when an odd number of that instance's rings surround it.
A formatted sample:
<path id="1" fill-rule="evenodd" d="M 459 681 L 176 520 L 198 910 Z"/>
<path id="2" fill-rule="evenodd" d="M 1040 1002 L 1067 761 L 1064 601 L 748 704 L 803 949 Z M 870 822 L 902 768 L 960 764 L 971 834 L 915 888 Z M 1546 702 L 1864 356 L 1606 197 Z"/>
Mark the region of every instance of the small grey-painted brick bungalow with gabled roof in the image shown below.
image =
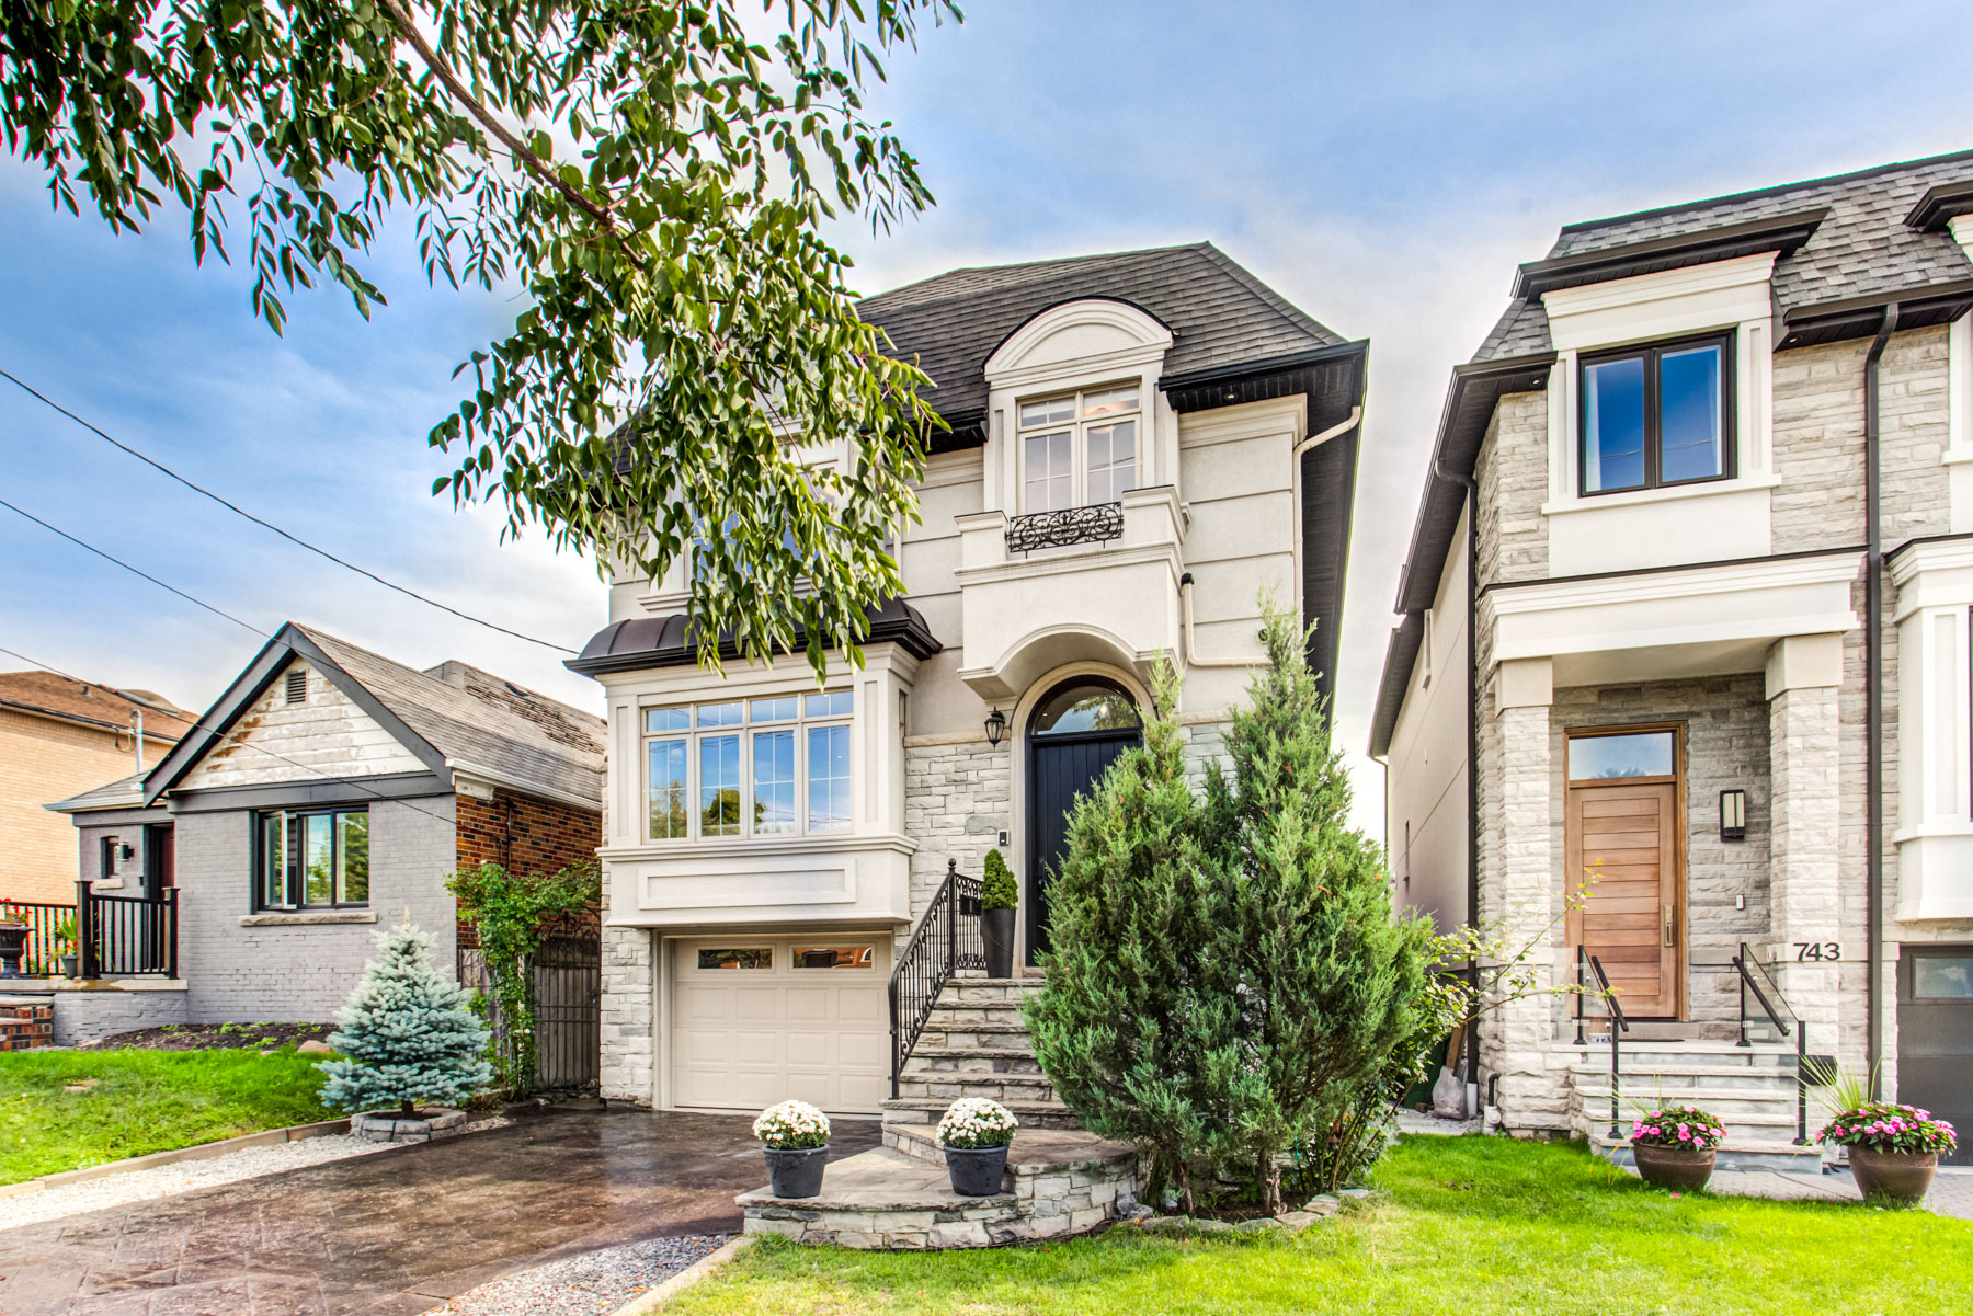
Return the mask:
<path id="1" fill-rule="evenodd" d="M 176 831 L 180 981 L 176 998 L 136 981 L 122 1000 L 57 992 L 57 1040 L 174 1014 L 333 1018 L 387 919 L 434 933 L 452 973 L 448 874 L 594 858 L 602 728 L 466 663 L 418 671 L 284 625 L 142 783 L 63 801 L 85 835 L 132 817 Z"/>

